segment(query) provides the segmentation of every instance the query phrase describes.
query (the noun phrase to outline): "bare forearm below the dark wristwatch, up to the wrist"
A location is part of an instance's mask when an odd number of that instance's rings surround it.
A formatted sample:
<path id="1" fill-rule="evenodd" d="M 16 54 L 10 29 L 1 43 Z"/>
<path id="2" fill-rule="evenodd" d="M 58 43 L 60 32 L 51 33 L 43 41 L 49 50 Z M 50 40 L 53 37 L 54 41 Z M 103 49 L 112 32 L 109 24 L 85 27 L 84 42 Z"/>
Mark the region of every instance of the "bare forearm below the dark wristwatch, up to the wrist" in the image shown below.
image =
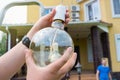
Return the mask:
<path id="1" fill-rule="evenodd" d="M 10 79 L 25 62 L 25 47 L 22 42 L 18 43 L 10 51 L 0 57 L 0 79 Z"/>

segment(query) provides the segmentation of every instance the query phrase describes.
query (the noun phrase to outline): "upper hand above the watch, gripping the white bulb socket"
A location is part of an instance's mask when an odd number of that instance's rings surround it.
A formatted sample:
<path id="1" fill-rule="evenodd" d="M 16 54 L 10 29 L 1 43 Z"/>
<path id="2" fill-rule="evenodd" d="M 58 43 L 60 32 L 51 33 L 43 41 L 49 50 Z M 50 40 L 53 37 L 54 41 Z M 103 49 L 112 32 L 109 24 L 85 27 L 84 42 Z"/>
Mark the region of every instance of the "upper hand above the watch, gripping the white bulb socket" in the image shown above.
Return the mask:
<path id="1" fill-rule="evenodd" d="M 52 12 L 48 15 L 43 16 L 42 18 L 40 18 L 32 27 L 32 29 L 28 32 L 27 36 L 31 39 L 32 36 L 39 31 L 42 28 L 45 27 L 50 27 L 51 23 L 53 21 L 53 17 L 55 16 L 55 9 L 52 10 Z M 65 24 L 68 24 L 70 18 L 69 18 L 69 11 L 66 10 L 66 20 L 65 20 Z"/>

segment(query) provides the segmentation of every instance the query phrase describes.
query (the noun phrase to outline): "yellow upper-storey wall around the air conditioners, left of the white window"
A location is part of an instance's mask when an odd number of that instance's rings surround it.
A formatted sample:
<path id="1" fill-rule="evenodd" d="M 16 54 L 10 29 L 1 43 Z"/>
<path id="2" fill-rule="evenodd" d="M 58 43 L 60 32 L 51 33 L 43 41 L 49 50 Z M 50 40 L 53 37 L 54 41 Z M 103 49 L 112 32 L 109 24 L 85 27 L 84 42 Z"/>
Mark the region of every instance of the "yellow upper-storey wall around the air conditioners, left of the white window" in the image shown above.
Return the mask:
<path id="1" fill-rule="evenodd" d="M 60 4 L 61 0 L 39 0 L 45 7 L 47 6 L 57 6 Z M 67 5 L 68 8 L 70 9 L 70 5 L 76 5 L 77 3 L 73 0 L 63 0 L 64 1 L 64 5 Z M 80 5 L 80 4 L 78 4 Z M 82 4 L 83 5 L 83 4 Z M 80 11 L 80 15 L 81 15 L 81 20 L 84 19 L 84 13 L 83 13 L 83 6 L 80 5 L 81 7 L 81 11 Z M 32 14 L 32 17 L 31 17 Z M 35 23 L 38 19 L 39 19 L 39 8 L 37 6 L 28 6 L 28 23 Z"/>

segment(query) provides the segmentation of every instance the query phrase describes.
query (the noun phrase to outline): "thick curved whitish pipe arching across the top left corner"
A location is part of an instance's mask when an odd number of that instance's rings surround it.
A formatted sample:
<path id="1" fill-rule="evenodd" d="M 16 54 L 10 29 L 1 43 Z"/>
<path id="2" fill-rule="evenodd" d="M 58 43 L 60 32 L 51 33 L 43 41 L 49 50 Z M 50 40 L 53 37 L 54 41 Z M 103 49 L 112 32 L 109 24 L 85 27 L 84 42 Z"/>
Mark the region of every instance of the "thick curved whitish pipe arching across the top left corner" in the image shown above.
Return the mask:
<path id="1" fill-rule="evenodd" d="M 42 3 L 40 3 L 39 1 L 35 1 L 35 0 L 32 0 L 32 1 L 17 1 L 17 2 L 12 2 L 12 3 L 9 3 L 7 4 L 0 12 L 0 25 L 2 25 L 2 22 L 3 22 L 3 19 L 4 19 L 4 16 L 6 14 L 6 11 L 13 7 L 13 6 L 23 6 L 23 5 L 38 5 L 40 6 L 40 17 L 44 15 L 44 6 Z"/>

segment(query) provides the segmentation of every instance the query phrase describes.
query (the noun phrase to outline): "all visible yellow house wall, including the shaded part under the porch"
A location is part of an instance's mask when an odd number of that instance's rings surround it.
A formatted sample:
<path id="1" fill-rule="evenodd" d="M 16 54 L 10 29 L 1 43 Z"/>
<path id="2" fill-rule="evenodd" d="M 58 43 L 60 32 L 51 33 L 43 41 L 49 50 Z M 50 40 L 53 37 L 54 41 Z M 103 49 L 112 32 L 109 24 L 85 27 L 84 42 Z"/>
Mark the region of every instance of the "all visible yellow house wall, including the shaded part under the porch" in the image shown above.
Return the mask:
<path id="1" fill-rule="evenodd" d="M 40 0 L 44 6 L 56 6 L 60 3 L 61 0 Z M 80 19 L 84 20 L 84 2 L 80 3 Z M 68 2 L 68 0 L 64 0 L 65 5 L 70 5 L 72 2 L 71 0 Z M 73 2 L 72 4 L 76 4 Z M 119 33 L 120 34 L 120 18 L 113 18 L 112 17 L 112 8 L 111 8 L 111 0 L 100 0 L 100 9 L 101 9 L 101 19 L 104 22 L 112 23 L 113 26 L 109 27 L 109 41 L 110 41 L 110 53 L 111 53 L 111 61 L 112 61 L 112 71 L 113 72 L 120 72 L 120 62 L 117 61 L 117 55 L 116 55 L 116 46 L 115 46 L 115 39 L 114 34 Z M 35 9 L 36 8 L 36 9 Z M 32 6 L 28 7 L 28 22 L 34 23 L 36 20 L 38 20 L 38 7 Z M 31 17 L 32 14 L 32 17 Z M 83 64 L 83 69 L 88 69 L 91 66 L 91 69 L 93 68 L 92 64 L 88 64 L 87 62 L 87 46 L 86 46 L 86 40 L 81 39 L 80 42 L 77 42 L 76 44 L 80 45 L 80 54 L 82 56 L 81 63 Z"/>

